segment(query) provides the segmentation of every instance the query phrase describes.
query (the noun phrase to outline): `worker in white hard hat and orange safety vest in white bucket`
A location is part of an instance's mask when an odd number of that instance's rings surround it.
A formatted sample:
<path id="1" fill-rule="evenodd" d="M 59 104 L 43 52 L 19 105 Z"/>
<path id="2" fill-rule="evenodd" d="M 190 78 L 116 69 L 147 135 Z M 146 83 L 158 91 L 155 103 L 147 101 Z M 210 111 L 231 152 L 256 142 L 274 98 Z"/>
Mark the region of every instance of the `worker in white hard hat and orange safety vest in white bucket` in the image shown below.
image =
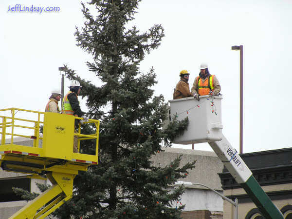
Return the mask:
<path id="1" fill-rule="evenodd" d="M 206 63 L 201 63 L 199 76 L 196 77 L 193 87 L 191 89 L 192 95 L 200 100 L 200 96 L 203 95 L 218 95 L 221 87 L 219 80 L 215 75 L 209 73 L 208 65 Z"/>

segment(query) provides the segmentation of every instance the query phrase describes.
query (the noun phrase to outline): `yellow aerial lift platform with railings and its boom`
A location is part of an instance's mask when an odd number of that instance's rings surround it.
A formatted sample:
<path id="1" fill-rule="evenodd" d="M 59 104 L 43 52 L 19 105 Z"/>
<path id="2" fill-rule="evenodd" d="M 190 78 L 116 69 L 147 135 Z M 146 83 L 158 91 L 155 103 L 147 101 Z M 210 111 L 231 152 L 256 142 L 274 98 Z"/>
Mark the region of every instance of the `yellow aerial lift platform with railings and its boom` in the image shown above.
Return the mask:
<path id="1" fill-rule="evenodd" d="M 36 119 L 27 119 L 32 117 Z M 0 110 L 0 118 L 2 169 L 36 178 L 47 177 L 53 184 L 9 219 L 43 219 L 72 198 L 73 179 L 78 171 L 87 171 L 88 166 L 97 164 L 99 120 L 84 122 L 95 127 L 95 133 L 85 135 L 80 133 L 80 125 L 74 133 L 74 120 L 82 118 L 71 115 L 9 108 Z M 40 125 L 43 125 L 42 135 Z M 23 135 L 29 132 L 32 135 Z M 73 153 L 74 136 L 78 137 L 78 151 L 81 140 L 95 140 L 95 154 Z M 14 137 L 34 139 L 33 146 L 15 144 Z"/>

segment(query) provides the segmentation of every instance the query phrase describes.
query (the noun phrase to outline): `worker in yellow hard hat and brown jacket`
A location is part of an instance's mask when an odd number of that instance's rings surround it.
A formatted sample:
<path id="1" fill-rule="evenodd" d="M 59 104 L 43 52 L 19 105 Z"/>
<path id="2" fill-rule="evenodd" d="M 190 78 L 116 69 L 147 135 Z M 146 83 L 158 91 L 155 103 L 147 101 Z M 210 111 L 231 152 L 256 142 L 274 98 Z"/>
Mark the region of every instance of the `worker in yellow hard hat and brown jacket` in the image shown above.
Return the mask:
<path id="1" fill-rule="evenodd" d="M 180 72 L 181 80 L 177 83 L 176 88 L 173 92 L 173 99 L 187 98 L 192 97 L 193 95 L 190 92 L 190 87 L 188 84 L 189 73 L 187 70 L 182 70 Z"/>

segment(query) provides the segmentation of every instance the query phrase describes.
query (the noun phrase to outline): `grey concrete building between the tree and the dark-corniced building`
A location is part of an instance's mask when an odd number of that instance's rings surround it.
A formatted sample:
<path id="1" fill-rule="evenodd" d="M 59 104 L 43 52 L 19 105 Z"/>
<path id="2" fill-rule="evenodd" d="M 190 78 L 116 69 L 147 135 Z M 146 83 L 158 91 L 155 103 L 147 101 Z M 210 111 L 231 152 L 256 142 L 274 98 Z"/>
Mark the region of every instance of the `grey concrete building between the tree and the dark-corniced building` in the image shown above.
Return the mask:
<path id="1" fill-rule="evenodd" d="M 219 178 L 223 164 L 214 152 L 164 148 L 164 152 L 153 156 L 152 161 L 157 166 L 165 166 L 180 155 L 181 165 L 196 160 L 196 167 L 189 170 L 186 178 L 180 180 L 201 183 L 223 194 Z M 185 204 L 182 219 L 222 219 L 223 199 L 219 195 L 199 185 L 184 186 L 185 193 L 180 201 Z"/>

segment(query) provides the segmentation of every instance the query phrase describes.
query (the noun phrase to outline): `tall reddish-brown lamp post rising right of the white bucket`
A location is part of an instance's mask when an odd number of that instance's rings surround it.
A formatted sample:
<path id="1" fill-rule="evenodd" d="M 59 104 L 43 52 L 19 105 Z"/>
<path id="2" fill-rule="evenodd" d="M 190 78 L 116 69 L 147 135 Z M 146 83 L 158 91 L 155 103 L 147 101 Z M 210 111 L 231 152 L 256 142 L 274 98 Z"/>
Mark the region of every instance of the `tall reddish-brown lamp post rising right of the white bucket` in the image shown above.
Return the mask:
<path id="1" fill-rule="evenodd" d="M 240 50 L 240 105 L 239 105 L 239 153 L 243 153 L 243 45 L 232 46 L 232 50 Z"/>

